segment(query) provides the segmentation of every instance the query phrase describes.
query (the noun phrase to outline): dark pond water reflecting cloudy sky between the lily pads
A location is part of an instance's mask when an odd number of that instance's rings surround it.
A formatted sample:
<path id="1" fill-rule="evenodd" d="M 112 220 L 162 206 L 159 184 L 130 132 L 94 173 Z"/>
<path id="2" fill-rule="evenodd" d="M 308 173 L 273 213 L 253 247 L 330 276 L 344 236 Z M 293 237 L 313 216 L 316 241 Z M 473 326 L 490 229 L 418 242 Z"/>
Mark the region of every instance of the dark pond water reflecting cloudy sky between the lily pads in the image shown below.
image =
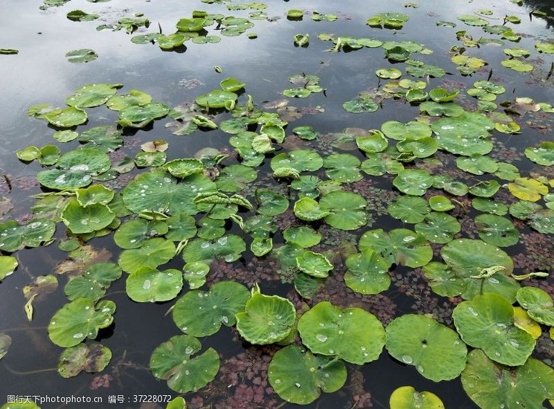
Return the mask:
<path id="1" fill-rule="evenodd" d="M 539 40 L 551 39 L 553 36 L 553 19 L 533 17 L 530 21 L 528 13 L 540 9 L 554 15 L 552 1 L 525 1 L 523 7 L 518 7 L 509 1 L 461 1 L 461 0 L 421 0 L 420 8 L 404 8 L 400 0 L 292 0 L 267 1 L 265 10 L 275 21 L 253 21 L 255 26 L 248 32 L 258 34 L 256 40 L 249 40 L 246 35 L 238 37 L 222 37 L 218 44 L 193 44 L 186 42 L 184 52 L 163 52 L 158 46 L 138 45 L 130 42 L 125 31 L 96 31 L 96 26 L 105 22 L 115 22 L 120 17 L 130 16 L 134 12 L 143 12 L 152 22 L 148 30 L 141 29 L 133 35 L 157 31 L 158 23 L 164 33 L 171 33 L 175 22 L 180 18 L 190 17 L 192 10 L 207 10 L 222 12 L 225 15 L 247 17 L 248 10 L 229 11 L 224 5 L 208 5 L 199 0 L 112 0 L 107 3 L 89 3 L 85 0 L 71 0 L 62 7 L 39 10 L 38 0 L 0 0 L 0 47 L 17 48 L 19 55 L 0 55 L 0 168 L 12 180 L 13 189 L 3 189 L 2 195 L 10 198 L 14 209 L 4 218 L 27 217 L 29 207 L 33 204 L 30 195 L 39 193 L 40 189 L 34 182 L 34 176 L 39 171 L 37 163 L 22 164 L 15 152 L 28 145 L 42 146 L 53 143 L 53 129 L 46 128 L 42 121 L 27 116 L 30 105 L 52 103 L 55 106 L 64 105 L 67 95 L 88 82 L 122 83 L 124 92 L 129 89 L 141 89 L 152 95 L 153 101 L 160 101 L 170 107 L 184 102 L 192 102 L 198 94 L 204 94 L 219 87 L 219 82 L 226 77 L 235 77 L 247 83 L 247 93 L 253 96 L 253 101 L 260 104 L 263 101 L 274 101 L 283 98 L 280 92 L 290 86 L 287 78 L 294 73 L 315 73 L 321 78 L 323 93 L 312 94 L 308 98 L 292 99 L 289 105 L 298 107 L 303 116 L 296 121 L 289 121 L 290 130 L 298 125 L 312 125 L 321 134 L 341 132 L 344 128 L 380 128 L 381 123 L 389 120 L 411 121 L 417 116 L 417 107 L 411 107 L 402 101 L 386 100 L 382 109 L 373 113 L 350 114 L 343 110 L 342 104 L 363 90 L 382 85 L 383 81 L 374 75 L 376 69 L 390 67 L 384 59 L 382 49 L 361 49 L 350 53 L 326 52 L 332 46 L 330 42 L 317 39 L 318 33 L 335 33 L 336 35 L 352 35 L 354 37 L 375 37 L 379 40 L 413 40 L 434 51 L 431 55 L 418 55 L 416 58 L 429 64 L 445 68 L 450 74 L 444 78 L 431 78 L 427 89 L 448 85 L 452 87 L 471 87 L 476 80 L 486 80 L 490 67 L 493 68 L 493 80 L 501 81 L 507 92 L 499 98 L 513 99 L 517 96 L 530 96 L 535 101 L 554 103 L 554 88 L 552 79 L 544 80 L 550 69 L 551 55 L 540 55 L 542 60 L 535 60 L 537 67 L 533 74 L 524 75 L 501 67 L 499 62 L 504 59 L 502 48 L 519 46 L 530 50 Z M 321 13 L 335 13 L 339 19 L 334 22 L 312 21 L 305 16 L 303 21 L 288 21 L 286 11 L 290 8 L 317 10 Z M 456 17 L 461 14 L 489 8 L 494 11 L 492 17 L 517 15 L 521 24 L 515 31 L 526 33 L 518 44 L 506 42 L 505 46 L 481 46 L 470 49 L 471 55 L 482 57 L 489 62 L 479 73 L 471 77 L 461 76 L 449 60 L 448 50 L 456 41 L 455 32 L 467 30 L 474 33 L 475 38 L 481 35 L 481 28 L 465 26 Z M 100 19 L 91 22 L 73 22 L 66 19 L 66 12 L 81 9 L 87 12 L 98 12 Z M 366 19 L 377 12 L 406 12 L 410 20 L 404 24 L 402 31 L 377 30 L 366 25 Z M 436 21 L 454 21 L 456 28 L 438 27 Z M 496 22 L 494 24 L 501 24 Z M 310 46 L 296 48 L 292 37 L 296 33 L 310 33 Z M 485 37 L 498 36 L 486 35 Z M 70 64 L 64 54 L 73 49 L 89 48 L 99 54 L 98 60 L 87 64 Z M 537 58 L 533 52 L 531 58 Z M 217 73 L 214 66 L 220 66 L 223 73 Z M 404 68 L 404 64 L 395 67 Z M 402 77 L 404 78 L 404 77 Z M 407 78 L 407 77 L 406 77 Z M 195 85 L 195 86 L 194 86 Z M 194 86 L 194 87 L 193 87 Z M 473 98 L 461 92 L 458 101 L 465 106 L 474 106 Z M 463 98 L 462 98 L 463 97 Z M 325 112 L 317 112 L 315 107 L 324 107 Z M 89 112 L 89 122 L 86 127 L 114 123 L 117 113 L 105 107 L 93 108 Z M 228 116 L 222 117 L 226 119 Z M 156 121 L 153 128 L 138 130 L 125 137 L 127 145 L 123 148 L 127 154 L 134 157 L 140 150 L 143 141 L 166 139 L 170 144 L 168 160 L 178 157 L 191 157 L 197 150 L 206 146 L 229 148 L 229 135 L 220 130 L 212 132 L 195 132 L 190 137 L 175 137 L 164 127 L 167 120 Z M 537 120 L 537 122 L 539 122 Z M 493 153 L 520 153 L 526 146 L 539 141 L 552 140 L 552 123 L 544 121 L 546 130 L 542 128 L 524 128 L 521 135 L 508 136 L 496 132 L 492 138 L 495 141 Z M 80 130 L 81 130 L 80 128 Z M 545 134 L 546 133 L 546 134 Z M 130 143 L 128 143 L 130 141 Z M 61 144 L 62 152 L 74 149 L 77 141 Z M 303 146 L 310 148 L 310 143 Z M 363 155 L 357 150 L 348 151 L 360 158 Z M 517 166 L 522 175 L 537 168 L 527 159 L 517 159 Z M 269 161 L 266 161 L 269 163 Z M 265 171 L 269 166 L 265 166 Z M 367 177 L 367 176 L 366 176 Z M 478 178 L 477 178 L 478 179 Z M 263 180 L 260 172 L 259 180 Z M 471 182 L 465 181 L 467 184 Z M 386 214 L 386 192 L 393 190 L 391 179 L 379 180 L 370 185 L 375 189 L 376 211 L 373 224 L 368 228 L 383 228 L 386 231 L 399 226 L 399 222 Z M 383 190 L 378 190 L 383 189 Z M 379 202 L 379 200 L 381 200 Z M 391 200 L 388 200 L 390 202 Z M 283 222 L 285 223 L 285 222 Z M 363 233 L 366 229 L 361 229 Z M 406 228 L 411 228 L 409 225 Z M 529 233 L 528 227 L 521 232 Z M 357 235 L 361 233 L 356 233 Z M 464 233 L 464 231 L 463 231 Z M 57 237 L 64 237 L 64 225 L 58 223 Z M 342 238 L 341 238 L 342 237 Z M 328 246 L 337 245 L 341 240 L 349 241 L 356 238 L 350 233 L 328 241 Z M 274 237 L 274 244 L 282 243 L 280 233 Z M 548 238 L 545 254 L 554 252 Z M 94 238 L 90 244 L 95 247 L 106 247 L 116 261 L 118 247 L 114 246 L 111 236 Z M 518 244 L 507 250 L 509 254 L 525 252 L 523 245 Z M 235 270 L 256 270 L 251 266 L 252 254 L 247 252 L 244 258 L 233 264 Z M 148 360 L 152 351 L 170 336 L 178 335 L 171 315 L 166 313 L 174 302 L 145 303 L 132 302 L 125 294 L 124 279 L 118 280 L 109 288 L 107 299 L 116 302 L 117 310 L 114 324 L 100 331 L 98 340 L 109 347 L 113 358 L 110 365 L 100 374 L 81 373 L 73 378 L 61 378 L 55 367 L 59 360 L 61 349 L 48 339 L 46 326 L 53 314 L 66 302 L 63 288 L 66 277 L 59 276 L 59 286 L 55 293 L 37 299 L 33 303 L 35 311 L 32 322 L 27 322 L 24 313 L 24 299 L 21 289 L 33 277 L 50 274 L 58 263 L 66 259 L 66 253 L 57 249 L 56 245 L 21 250 L 17 253 L 19 268 L 0 284 L 0 332 L 6 332 L 12 337 L 12 346 L 8 354 L 0 361 L 0 403 L 7 400 L 8 394 L 19 395 L 84 395 L 87 397 L 103 397 L 104 403 L 70 404 L 69 408 L 158 408 L 154 403 L 134 403 L 135 394 L 171 394 L 166 382 L 157 381 L 148 370 Z M 181 258 L 177 257 L 168 267 L 182 267 Z M 179 264 L 179 261 L 181 264 Z M 226 267 L 229 269 L 229 267 Z M 210 272 L 226 274 L 224 266 L 217 264 Z M 259 276 L 242 277 L 244 284 L 260 281 L 263 274 L 271 271 L 271 267 L 260 262 L 263 273 Z M 258 270 L 260 270 L 258 269 Z M 440 322 L 449 321 L 452 304 L 447 299 L 440 299 L 425 286 L 420 275 L 415 275 L 409 268 L 397 267 L 391 273 L 393 284 L 384 293 L 376 296 L 355 296 L 350 292 L 351 299 L 344 300 L 353 306 L 361 306 L 378 315 L 384 323 L 390 322 L 396 315 L 422 311 L 433 313 Z M 125 275 L 125 273 L 124 273 Z M 290 282 L 282 282 L 274 273 L 273 279 L 262 281 L 262 290 L 266 294 L 286 296 L 294 293 Z M 246 278 L 244 278 L 246 277 Z M 287 281 L 283 279 L 283 281 Z M 208 276 L 208 284 L 213 282 Z M 426 293 L 427 291 L 427 293 Z M 335 297 L 341 297 L 337 290 Z M 449 307 L 447 307 L 449 306 Z M 450 309 L 449 309 L 450 308 Z M 268 390 L 256 392 L 263 394 L 263 400 L 256 402 L 249 394 L 258 391 L 259 383 L 265 381 L 265 370 L 269 362 L 269 354 L 273 347 L 260 348 L 243 344 L 235 329 L 223 327 L 214 336 L 202 339 L 202 345 L 214 347 L 221 356 L 222 370 L 216 380 L 201 392 L 186 394 L 190 407 L 200 408 L 277 408 L 293 407 L 285 404 L 276 394 L 268 394 Z M 553 351 L 552 340 L 548 349 L 542 350 L 539 358 L 548 358 L 548 352 Z M 267 358 L 265 360 L 265 358 Z M 552 356 L 550 356 L 552 358 Z M 229 360 L 231 359 L 231 363 Z M 438 357 L 440 359 L 440 357 Z M 242 363 L 236 363 L 241 360 Z M 234 363 L 235 367 L 233 367 Z M 233 369 L 234 368 L 234 369 Z M 387 408 L 388 397 L 393 390 L 402 385 L 412 385 L 416 390 L 434 392 L 445 403 L 446 408 L 474 408 L 474 403 L 467 398 L 458 378 L 454 381 L 434 383 L 418 374 L 414 367 L 402 365 L 383 351 L 379 360 L 356 367 L 348 365 L 349 377 L 345 387 L 334 394 L 323 393 L 312 403 L 310 408 L 361 408 L 373 405 L 375 408 Z M 224 371 L 235 370 L 239 374 L 238 385 L 229 381 L 229 375 Z M 98 385 L 98 376 L 107 374 L 109 385 Z M 105 376 L 105 378 L 108 378 Z M 258 377 L 261 378 L 258 379 Z M 244 392 L 237 393 L 239 385 L 245 385 Z M 269 388 L 267 385 L 266 388 Z M 370 399 L 368 395 L 370 394 Z M 109 404 L 108 395 L 123 395 L 125 403 Z M 361 400 L 359 399 L 361 397 Z M 358 402 L 357 402 L 358 401 Z M 283 403 L 283 404 L 282 404 Z M 242 405 L 242 406 L 241 406 Z M 46 403 L 42 408 L 63 408 L 64 405 Z M 165 406 L 163 406 L 165 407 Z"/>

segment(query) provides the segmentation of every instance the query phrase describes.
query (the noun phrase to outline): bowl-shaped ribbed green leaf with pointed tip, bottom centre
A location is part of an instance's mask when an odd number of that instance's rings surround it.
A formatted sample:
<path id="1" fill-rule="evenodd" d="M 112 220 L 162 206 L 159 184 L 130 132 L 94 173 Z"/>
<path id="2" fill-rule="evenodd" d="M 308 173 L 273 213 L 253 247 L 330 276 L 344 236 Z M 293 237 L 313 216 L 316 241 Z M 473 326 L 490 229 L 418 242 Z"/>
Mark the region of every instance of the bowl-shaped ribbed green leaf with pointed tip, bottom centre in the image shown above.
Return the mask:
<path id="1" fill-rule="evenodd" d="M 251 344 L 265 345 L 289 336 L 296 310 L 288 299 L 278 295 L 263 295 L 256 285 L 244 311 L 235 317 L 242 338 Z"/>

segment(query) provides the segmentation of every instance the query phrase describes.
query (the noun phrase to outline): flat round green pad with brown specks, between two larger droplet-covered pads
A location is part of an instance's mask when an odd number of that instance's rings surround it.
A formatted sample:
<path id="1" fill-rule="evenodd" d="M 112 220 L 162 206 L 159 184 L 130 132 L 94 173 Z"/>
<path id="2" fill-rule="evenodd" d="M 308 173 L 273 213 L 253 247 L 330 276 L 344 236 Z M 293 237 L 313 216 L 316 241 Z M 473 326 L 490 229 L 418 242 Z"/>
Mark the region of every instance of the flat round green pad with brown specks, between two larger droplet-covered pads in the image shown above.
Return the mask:
<path id="1" fill-rule="evenodd" d="M 406 314 L 386 327 L 386 349 L 431 381 L 456 378 L 465 367 L 467 348 L 458 334 L 425 315 Z M 437 360 L 440 356 L 440 360 Z"/>

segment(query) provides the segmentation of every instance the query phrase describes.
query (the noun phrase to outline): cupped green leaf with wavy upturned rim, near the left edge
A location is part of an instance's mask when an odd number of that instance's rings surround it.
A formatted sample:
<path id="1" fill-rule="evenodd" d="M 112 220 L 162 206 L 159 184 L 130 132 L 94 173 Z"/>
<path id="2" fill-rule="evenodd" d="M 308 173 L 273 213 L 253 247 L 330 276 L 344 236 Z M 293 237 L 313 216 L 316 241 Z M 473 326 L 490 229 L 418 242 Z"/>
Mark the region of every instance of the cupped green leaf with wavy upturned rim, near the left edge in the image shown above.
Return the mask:
<path id="1" fill-rule="evenodd" d="M 86 234 L 103 229 L 114 221 L 116 215 L 105 204 L 90 204 L 83 207 L 77 200 L 69 200 L 62 221 L 73 234 Z"/>

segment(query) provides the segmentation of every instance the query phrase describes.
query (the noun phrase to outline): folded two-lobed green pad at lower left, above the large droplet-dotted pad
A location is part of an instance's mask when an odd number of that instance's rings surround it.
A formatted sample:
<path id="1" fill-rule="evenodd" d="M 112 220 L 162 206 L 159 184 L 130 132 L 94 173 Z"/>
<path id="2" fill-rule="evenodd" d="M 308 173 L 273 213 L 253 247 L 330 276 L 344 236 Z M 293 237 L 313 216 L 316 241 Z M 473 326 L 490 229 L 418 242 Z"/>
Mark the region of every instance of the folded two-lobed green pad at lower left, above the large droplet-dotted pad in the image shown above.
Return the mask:
<path id="1" fill-rule="evenodd" d="M 104 297 L 107 288 L 119 277 L 121 269 L 116 263 L 95 263 L 88 266 L 82 275 L 70 279 L 64 293 L 70 301 L 88 298 L 96 302 Z"/>

